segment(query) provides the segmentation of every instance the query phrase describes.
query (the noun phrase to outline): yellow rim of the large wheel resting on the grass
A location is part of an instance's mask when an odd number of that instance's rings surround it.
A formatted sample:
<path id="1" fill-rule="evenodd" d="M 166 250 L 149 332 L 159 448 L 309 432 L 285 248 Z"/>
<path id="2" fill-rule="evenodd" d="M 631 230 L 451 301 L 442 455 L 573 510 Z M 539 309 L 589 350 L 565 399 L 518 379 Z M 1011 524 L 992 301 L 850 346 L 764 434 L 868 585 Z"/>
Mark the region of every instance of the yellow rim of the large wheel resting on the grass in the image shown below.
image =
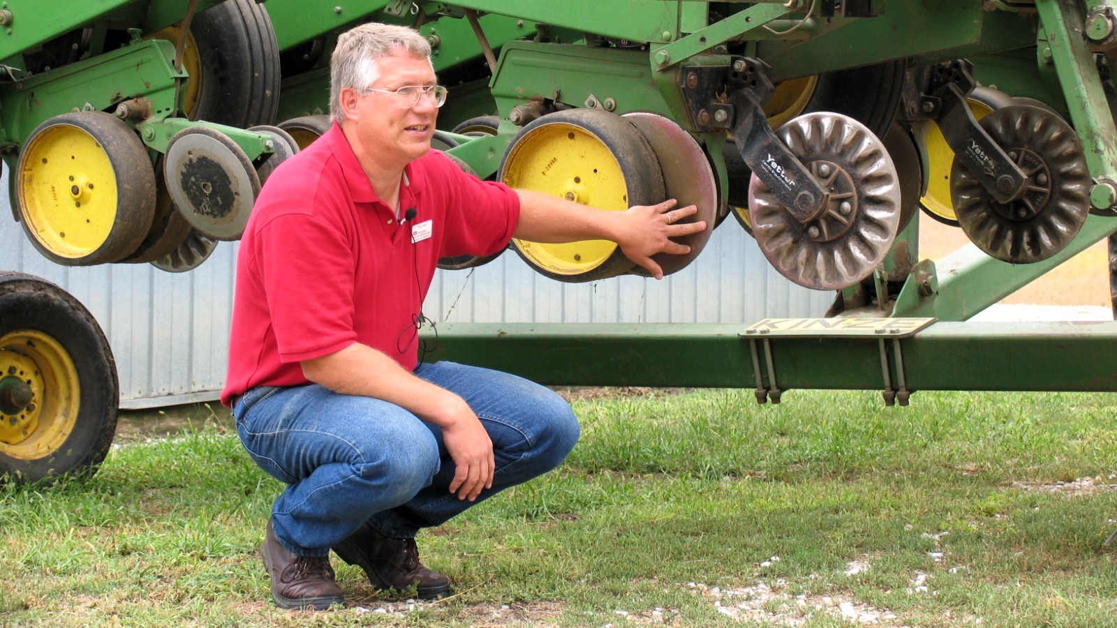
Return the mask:
<path id="1" fill-rule="evenodd" d="M 0 412 L 0 453 L 21 460 L 57 451 L 74 431 L 82 390 L 69 353 L 52 336 L 17 330 L 0 336 L 0 378 L 18 378 L 31 402 L 15 413 Z"/>

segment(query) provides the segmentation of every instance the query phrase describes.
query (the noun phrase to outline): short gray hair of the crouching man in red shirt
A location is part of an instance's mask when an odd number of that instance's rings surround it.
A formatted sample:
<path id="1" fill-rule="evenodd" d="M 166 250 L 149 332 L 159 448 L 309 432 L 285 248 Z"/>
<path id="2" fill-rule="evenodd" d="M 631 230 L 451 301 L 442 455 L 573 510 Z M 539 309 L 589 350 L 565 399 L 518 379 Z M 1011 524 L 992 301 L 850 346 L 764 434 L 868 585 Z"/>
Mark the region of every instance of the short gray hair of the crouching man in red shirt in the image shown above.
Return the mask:
<path id="1" fill-rule="evenodd" d="M 405 26 L 367 22 L 337 37 L 330 59 L 330 120 L 345 120 L 341 108 L 342 89 L 366 89 L 380 78 L 378 59 L 400 48 L 430 59 L 430 44 L 419 31 Z"/>

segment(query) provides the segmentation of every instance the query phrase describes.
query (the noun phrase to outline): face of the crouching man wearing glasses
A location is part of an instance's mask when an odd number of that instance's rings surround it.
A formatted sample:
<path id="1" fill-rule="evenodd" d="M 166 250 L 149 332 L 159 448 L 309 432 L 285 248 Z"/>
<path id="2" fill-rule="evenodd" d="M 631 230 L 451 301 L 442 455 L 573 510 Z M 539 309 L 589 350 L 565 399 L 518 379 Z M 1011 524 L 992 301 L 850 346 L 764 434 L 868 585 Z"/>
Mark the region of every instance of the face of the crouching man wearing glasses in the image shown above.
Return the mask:
<path id="1" fill-rule="evenodd" d="M 380 77 L 370 87 L 393 92 L 408 85 L 436 85 L 435 70 L 426 57 L 400 49 L 378 60 Z M 430 150 L 438 107 L 430 96 L 414 106 L 398 94 L 365 92 L 357 98 L 354 122 L 365 154 L 376 161 L 407 164 Z"/>

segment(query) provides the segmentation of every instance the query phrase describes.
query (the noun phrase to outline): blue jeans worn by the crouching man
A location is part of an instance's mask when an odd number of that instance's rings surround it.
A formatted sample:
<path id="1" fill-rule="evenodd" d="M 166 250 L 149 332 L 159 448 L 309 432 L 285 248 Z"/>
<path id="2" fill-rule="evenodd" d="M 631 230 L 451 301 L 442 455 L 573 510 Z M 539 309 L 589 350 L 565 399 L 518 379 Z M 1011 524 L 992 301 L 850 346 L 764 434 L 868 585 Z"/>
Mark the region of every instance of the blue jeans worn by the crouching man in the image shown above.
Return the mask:
<path id="1" fill-rule="evenodd" d="M 365 522 L 412 537 L 555 468 L 577 441 L 574 412 L 545 387 L 454 362 L 420 364 L 414 374 L 457 393 L 480 419 L 493 440 L 493 487 L 475 502 L 450 493 L 455 465 L 441 430 L 399 406 L 318 384 L 254 388 L 233 407 L 237 434 L 256 464 L 287 484 L 271 507 L 287 550 L 326 555 Z"/>

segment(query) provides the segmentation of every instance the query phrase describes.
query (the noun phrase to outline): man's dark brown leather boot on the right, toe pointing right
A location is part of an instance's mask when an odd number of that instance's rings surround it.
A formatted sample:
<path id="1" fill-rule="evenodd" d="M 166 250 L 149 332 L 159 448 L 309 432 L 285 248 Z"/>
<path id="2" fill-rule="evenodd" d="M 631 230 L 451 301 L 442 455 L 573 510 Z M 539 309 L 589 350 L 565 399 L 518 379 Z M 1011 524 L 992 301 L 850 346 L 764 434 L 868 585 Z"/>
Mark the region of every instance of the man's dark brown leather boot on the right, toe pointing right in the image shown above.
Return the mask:
<path id="1" fill-rule="evenodd" d="M 433 600 L 450 594 L 450 579 L 419 562 L 414 539 L 391 539 L 361 524 L 349 539 L 331 548 L 341 559 L 364 570 L 378 589 L 402 591 L 416 586 L 416 596 Z"/>

